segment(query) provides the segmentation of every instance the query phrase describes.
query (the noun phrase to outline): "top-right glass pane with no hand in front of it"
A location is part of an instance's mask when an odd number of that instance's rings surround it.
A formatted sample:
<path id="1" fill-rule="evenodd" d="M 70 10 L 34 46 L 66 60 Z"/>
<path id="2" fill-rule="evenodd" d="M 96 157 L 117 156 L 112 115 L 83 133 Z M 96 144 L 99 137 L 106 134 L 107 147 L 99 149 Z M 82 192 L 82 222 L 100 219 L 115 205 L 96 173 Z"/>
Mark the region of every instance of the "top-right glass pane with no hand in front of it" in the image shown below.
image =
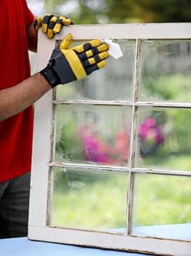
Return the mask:
<path id="1" fill-rule="evenodd" d="M 141 50 L 140 100 L 190 102 L 191 41 L 142 41 Z"/>

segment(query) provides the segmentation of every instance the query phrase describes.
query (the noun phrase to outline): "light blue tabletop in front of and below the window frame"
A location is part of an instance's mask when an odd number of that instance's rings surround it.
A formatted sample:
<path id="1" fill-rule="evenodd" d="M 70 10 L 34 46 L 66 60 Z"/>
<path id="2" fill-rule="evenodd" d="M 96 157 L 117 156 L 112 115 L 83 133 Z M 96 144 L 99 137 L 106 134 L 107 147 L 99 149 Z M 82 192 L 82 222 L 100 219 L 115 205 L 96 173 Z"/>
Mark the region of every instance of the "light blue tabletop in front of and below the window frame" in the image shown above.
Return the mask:
<path id="1" fill-rule="evenodd" d="M 0 240 L 0 256 L 146 256 L 108 249 L 29 241 L 27 237 Z M 148 256 L 148 255 L 147 255 Z M 150 255 L 151 256 L 151 255 Z"/>

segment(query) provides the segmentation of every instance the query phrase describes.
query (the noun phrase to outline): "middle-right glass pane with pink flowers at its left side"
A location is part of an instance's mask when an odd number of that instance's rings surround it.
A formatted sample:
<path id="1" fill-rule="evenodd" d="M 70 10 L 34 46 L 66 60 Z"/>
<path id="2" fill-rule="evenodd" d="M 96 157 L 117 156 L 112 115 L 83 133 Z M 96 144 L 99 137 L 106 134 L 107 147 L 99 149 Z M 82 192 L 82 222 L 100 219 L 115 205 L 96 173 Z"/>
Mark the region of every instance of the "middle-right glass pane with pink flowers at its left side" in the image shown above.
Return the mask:
<path id="1" fill-rule="evenodd" d="M 191 171 L 191 110 L 138 110 L 136 167 Z"/>

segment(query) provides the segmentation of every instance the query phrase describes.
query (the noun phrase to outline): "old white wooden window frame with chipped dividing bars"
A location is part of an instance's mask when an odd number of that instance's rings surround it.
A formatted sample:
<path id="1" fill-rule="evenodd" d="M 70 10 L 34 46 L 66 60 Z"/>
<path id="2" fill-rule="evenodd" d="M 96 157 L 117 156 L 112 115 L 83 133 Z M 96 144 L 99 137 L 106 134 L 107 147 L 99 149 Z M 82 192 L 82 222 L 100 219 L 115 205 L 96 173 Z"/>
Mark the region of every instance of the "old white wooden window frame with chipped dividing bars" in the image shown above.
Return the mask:
<path id="1" fill-rule="evenodd" d="M 110 39 L 134 39 L 136 40 L 136 68 L 134 92 L 138 89 L 138 64 L 139 46 L 142 39 L 191 39 L 191 23 L 185 24 L 100 24 L 100 25 L 73 25 L 63 29 L 62 33 L 53 40 L 48 40 L 45 35 L 39 33 L 37 71 L 43 69 L 49 61 L 49 56 L 53 51 L 56 40 L 61 40 L 67 33 L 72 33 L 74 40 L 90 40 L 94 38 Z M 191 103 L 171 103 L 171 102 L 138 102 L 138 93 L 134 93 L 133 118 L 137 106 L 180 106 L 191 108 Z M 52 163 L 51 150 L 53 147 L 53 107 L 56 102 L 53 99 L 53 90 L 45 94 L 35 106 L 35 126 L 33 136 L 32 154 L 32 180 L 30 212 L 28 224 L 28 238 L 37 241 L 53 241 L 71 245 L 86 245 L 107 249 L 119 249 L 126 251 L 136 251 L 142 253 L 155 253 L 163 255 L 191 255 L 191 241 L 178 241 L 156 237 L 142 237 L 130 235 L 131 225 L 128 224 L 125 235 L 111 234 L 108 232 L 98 232 L 89 230 L 79 230 L 70 228 L 49 227 L 49 194 L 50 194 L 50 167 L 83 167 L 96 168 L 95 165 Z M 72 104 L 101 104 L 101 105 L 129 105 L 129 102 L 103 102 L 103 101 L 67 101 L 61 103 Z M 136 135 L 132 131 L 132 138 Z M 130 152 L 135 150 L 135 143 L 132 140 Z M 100 168 L 100 166 L 99 166 Z M 112 167 L 104 166 L 103 169 L 112 170 Z M 114 169 L 114 168 L 113 168 Z M 130 158 L 130 168 L 117 167 L 121 171 L 129 172 L 129 195 L 128 195 L 128 219 L 132 218 L 134 187 L 134 173 L 148 172 L 146 169 L 134 169 L 134 158 Z M 168 170 L 150 170 L 150 173 L 161 173 L 172 175 Z M 191 176 L 189 171 L 173 171 L 174 175 Z M 130 222 L 129 222 L 130 223 Z"/>

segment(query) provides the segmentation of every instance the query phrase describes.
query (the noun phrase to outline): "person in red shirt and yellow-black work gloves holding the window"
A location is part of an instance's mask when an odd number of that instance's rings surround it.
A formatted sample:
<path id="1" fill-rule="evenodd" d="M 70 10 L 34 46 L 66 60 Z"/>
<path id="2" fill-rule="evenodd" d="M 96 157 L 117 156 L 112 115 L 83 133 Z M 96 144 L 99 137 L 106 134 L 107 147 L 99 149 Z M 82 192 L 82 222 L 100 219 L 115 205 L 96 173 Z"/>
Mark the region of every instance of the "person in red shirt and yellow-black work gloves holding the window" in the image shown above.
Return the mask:
<path id="1" fill-rule="evenodd" d="M 0 238 L 6 238 L 28 232 L 32 104 L 54 86 L 104 67 L 108 46 L 92 40 L 70 48 L 72 35 L 68 34 L 53 50 L 47 66 L 30 76 L 28 50 L 36 51 L 36 31 L 42 26 L 47 37 L 53 38 L 71 21 L 45 15 L 34 22 L 26 0 L 1 0 L 0 10 Z"/>

